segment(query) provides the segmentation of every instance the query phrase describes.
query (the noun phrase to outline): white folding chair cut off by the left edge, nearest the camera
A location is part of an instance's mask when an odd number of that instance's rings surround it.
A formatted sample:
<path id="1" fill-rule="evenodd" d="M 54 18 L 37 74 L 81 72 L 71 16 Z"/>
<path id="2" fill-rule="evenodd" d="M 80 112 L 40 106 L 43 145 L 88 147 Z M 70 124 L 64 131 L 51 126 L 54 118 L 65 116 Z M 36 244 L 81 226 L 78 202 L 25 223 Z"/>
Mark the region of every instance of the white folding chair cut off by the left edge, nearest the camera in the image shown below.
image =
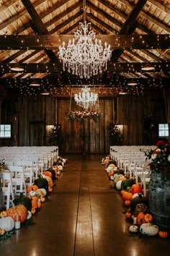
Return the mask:
<path id="1" fill-rule="evenodd" d="M 0 179 L 2 184 L 2 205 L 8 209 L 12 205 L 14 200 L 14 191 L 12 187 L 12 174 L 11 172 L 0 173 Z M 13 205 L 12 205 L 13 206 Z"/>

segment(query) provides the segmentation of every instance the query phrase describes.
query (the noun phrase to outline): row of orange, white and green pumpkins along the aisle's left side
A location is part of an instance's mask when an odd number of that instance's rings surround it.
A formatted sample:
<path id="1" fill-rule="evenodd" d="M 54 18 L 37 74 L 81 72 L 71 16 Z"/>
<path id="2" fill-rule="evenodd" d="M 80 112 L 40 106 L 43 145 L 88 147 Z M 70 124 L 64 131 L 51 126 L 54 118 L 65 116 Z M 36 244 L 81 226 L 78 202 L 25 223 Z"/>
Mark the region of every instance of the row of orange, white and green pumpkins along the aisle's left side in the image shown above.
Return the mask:
<path id="1" fill-rule="evenodd" d="M 9 237 L 15 229 L 30 221 L 49 195 L 53 192 L 55 181 L 61 175 L 68 162 L 67 158 L 58 157 L 51 168 L 44 171 L 27 187 L 27 195 L 19 195 L 12 202 L 12 208 L 2 210 L 0 213 L 0 240 Z"/>

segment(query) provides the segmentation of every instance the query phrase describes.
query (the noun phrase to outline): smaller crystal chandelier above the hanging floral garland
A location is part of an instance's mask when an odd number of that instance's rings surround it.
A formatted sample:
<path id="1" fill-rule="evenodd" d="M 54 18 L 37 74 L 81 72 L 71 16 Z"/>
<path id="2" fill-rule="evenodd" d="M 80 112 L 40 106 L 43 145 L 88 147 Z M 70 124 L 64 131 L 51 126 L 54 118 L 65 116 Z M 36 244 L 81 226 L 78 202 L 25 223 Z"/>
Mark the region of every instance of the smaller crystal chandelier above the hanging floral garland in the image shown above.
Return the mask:
<path id="1" fill-rule="evenodd" d="M 81 92 L 74 95 L 74 100 L 81 108 L 89 108 L 97 103 L 98 95 L 90 92 L 90 88 L 84 86 L 84 88 L 81 88 Z"/>

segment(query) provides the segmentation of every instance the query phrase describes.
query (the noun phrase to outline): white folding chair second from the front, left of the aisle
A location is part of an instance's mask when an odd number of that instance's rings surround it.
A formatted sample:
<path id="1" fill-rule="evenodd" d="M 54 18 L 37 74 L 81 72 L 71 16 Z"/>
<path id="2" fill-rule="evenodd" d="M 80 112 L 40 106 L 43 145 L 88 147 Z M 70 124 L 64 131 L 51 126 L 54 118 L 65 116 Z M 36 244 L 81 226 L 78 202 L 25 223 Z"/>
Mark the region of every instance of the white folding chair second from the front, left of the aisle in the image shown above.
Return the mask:
<path id="1" fill-rule="evenodd" d="M 27 195 L 24 166 L 9 166 L 9 170 L 12 172 L 12 186 L 14 188 L 14 195 Z"/>

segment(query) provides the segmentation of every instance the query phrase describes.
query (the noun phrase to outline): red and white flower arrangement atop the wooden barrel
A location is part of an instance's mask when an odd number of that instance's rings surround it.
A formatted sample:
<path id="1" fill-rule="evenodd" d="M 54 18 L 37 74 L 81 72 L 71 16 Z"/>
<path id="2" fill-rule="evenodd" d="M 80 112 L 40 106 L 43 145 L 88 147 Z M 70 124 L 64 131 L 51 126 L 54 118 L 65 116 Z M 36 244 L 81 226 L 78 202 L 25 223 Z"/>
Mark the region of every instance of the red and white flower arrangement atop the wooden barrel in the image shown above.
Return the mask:
<path id="1" fill-rule="evenodd" d="M 140 149 L 141 150 L 141 149 Z M 170 145 L 163 140 L 158 140 L 155 149 L 141 150 L 146 159 L 151 159 L 151 171 L 161 173 L 163 176 L 170 174 Z"/>

